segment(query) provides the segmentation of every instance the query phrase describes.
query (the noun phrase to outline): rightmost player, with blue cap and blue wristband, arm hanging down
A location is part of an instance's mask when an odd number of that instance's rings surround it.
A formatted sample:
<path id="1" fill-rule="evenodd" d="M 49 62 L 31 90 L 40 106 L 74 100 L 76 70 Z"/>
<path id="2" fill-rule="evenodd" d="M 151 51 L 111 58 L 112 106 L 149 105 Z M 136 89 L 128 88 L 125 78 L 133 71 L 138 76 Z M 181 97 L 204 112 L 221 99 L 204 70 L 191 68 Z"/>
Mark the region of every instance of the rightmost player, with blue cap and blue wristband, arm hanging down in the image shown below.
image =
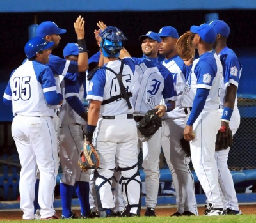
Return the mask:
<path id="1" fill-rule="evenodd" d="M 220 89 L 220 114 L 221 128 L 230 127 L 232 134 L 236 134 L 240 125 L 240 114 L 237 109 L 237 88 L 241 77 L 242 65 L 232 49 L 227 47 L 227 38 L 230 33 L 228 24 L 224 21 L 215 20 L 210 23 L 217 31 L 214 49 L 223 65 L 223 79 Z M 223 194 L 223 203 L 227 215 L 241 215 L 237 203 L 236 191 L 230 170 L 228 169 L 227 150 L 215 152 L 215 159 L 218 167 L 218 177 L 221 192 Z"/>

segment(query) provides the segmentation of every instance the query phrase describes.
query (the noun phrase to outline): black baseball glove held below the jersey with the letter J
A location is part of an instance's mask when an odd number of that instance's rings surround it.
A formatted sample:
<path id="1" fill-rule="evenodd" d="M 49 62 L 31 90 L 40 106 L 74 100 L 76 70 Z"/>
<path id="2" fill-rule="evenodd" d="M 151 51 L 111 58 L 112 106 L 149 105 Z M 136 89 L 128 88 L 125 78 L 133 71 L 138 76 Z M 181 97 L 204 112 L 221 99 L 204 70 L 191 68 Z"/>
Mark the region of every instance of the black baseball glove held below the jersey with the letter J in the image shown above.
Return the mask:
<path id="1" fill-rule="evenodd" d="M 162 125 L 162 119 L 157 116 L 157 111 L 158 109 L 148 110 L 138 125 L 138 129 L 140 130 L 141 134 L 147 138 L 154 135 Z"/>

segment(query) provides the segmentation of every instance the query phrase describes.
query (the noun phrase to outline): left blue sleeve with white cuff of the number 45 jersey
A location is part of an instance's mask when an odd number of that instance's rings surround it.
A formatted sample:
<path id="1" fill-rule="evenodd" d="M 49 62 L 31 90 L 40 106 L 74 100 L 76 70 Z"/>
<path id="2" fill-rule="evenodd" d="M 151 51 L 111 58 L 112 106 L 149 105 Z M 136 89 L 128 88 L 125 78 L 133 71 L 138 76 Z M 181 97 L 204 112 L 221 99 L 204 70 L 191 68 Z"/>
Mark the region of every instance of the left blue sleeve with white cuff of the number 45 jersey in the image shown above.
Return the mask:
<path id="1" fill-rule="evenodd" d="M 99 69 L 89 82 L 87 100 L 103 101 L 104 86 L 106 83 L 106 70 Z"/>

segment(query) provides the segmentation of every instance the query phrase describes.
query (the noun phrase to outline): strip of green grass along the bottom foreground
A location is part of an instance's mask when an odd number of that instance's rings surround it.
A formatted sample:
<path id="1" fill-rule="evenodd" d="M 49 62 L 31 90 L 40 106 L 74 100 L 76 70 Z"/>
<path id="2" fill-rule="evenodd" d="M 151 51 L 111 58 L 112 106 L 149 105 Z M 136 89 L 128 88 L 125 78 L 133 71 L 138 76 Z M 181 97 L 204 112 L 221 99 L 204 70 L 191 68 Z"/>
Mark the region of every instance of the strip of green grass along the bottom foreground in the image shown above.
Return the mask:
<path id="1" fill-rule="evenodd" d="M 106 218 L 106 219 L 72 219 L 72 220 L 47 220 L 49 223 L 57 222 L 77 222 L 77 223 L 194 223 L 194 222 L 205 222 L 205 223 L 255 223 L 256 215 L 239 215 L 239 216 L 196 216 L 196 217 L 125 217 L 125 218 Z M 6 222 L 6 221 L 4 221 Z M 12 220 L 11 222 L 24 223 L 23 220 Z M 37 222 L 37 221 L 32 221 Z"/>

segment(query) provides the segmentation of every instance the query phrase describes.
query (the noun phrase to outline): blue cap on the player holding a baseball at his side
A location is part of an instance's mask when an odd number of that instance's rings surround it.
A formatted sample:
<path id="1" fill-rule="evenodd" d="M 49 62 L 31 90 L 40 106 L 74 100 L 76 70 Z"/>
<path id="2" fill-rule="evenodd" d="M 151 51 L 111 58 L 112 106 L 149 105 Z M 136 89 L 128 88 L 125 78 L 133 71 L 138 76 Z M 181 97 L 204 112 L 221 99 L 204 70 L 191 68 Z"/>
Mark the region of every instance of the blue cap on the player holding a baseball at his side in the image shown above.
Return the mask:
<path id="1" fill-rule="evenodd" d="M 215 42 L 217 37 L 216 29 L 209 24 L 201 24 L 200 26 L 191 26 L 190 31 L 192 33 L 197 33 L 204 42 L 212 44 Z"/>

